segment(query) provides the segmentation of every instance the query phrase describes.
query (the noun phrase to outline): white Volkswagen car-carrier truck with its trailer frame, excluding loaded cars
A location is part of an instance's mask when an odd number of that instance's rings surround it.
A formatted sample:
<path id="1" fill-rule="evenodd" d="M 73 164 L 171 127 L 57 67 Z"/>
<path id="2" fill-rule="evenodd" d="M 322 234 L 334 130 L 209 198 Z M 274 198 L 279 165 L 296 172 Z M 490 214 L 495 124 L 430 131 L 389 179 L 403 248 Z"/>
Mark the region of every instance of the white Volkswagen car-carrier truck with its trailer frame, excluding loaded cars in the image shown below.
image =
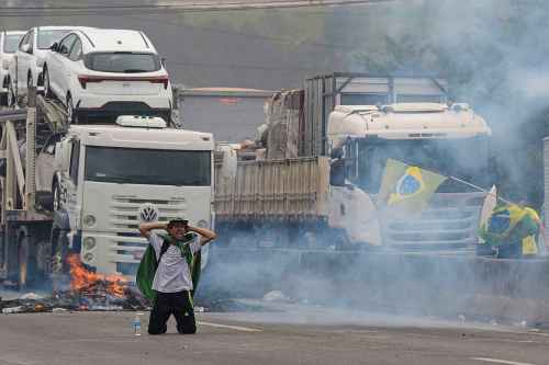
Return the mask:
<path id="1" fill-rule="evenodd" d="M 0 273 L 21 286 L 66 270 L 69 252 L 90 269 L 134 280 L 146 240 L 141 221 L 212 224 L 211 134 L 160 118 L 67 125 L 59 106 L 7 111 L 2 122 Z M 23 153 L 20 153 L 22 151 Z"/>

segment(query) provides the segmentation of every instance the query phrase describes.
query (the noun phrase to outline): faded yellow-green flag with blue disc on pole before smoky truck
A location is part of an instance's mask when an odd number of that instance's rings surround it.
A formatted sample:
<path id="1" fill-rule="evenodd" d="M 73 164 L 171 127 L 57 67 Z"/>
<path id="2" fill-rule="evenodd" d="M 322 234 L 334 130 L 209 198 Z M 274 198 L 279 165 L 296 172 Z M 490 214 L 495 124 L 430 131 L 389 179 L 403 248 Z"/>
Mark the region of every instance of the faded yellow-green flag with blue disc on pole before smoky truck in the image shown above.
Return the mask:
<path id="1" fill-rule="evenodd" d="M 433 171 L 388 159 L 379 202 L 391 212 L 421 213 L 446 179 Z"/>

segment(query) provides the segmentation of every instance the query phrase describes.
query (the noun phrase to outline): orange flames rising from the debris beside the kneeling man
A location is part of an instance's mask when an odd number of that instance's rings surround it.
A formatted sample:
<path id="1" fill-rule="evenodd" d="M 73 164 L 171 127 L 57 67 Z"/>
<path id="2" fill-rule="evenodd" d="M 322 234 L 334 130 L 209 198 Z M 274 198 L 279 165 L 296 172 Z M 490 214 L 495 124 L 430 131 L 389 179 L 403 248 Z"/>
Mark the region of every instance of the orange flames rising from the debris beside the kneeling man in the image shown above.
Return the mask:
<path id="1" fill-rule="evenodd" d="M 70 266 L 70 288 L 75 292 L 91 289 L 97 285 L 102 285 L 107 293 L 116 297 L 124 297 L 127 281 L 120 275 L 102 275 L 86 270 L 80 256 L 71 254 L 67 258 Z"/>

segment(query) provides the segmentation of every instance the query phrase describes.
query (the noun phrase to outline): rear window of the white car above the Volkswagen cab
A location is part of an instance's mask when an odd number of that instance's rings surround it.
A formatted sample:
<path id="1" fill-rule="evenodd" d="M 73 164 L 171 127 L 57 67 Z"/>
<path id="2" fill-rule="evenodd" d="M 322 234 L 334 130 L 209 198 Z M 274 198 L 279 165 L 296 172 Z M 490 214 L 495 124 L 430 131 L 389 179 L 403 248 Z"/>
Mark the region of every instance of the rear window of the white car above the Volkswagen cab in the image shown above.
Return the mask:
<path id="1" fill-rule="evenodd" d="M 86 57 L 90 70 L 116 73 L 139 73 L 158 71 L 160 60 L 154 54 L 96 53 Z"/>

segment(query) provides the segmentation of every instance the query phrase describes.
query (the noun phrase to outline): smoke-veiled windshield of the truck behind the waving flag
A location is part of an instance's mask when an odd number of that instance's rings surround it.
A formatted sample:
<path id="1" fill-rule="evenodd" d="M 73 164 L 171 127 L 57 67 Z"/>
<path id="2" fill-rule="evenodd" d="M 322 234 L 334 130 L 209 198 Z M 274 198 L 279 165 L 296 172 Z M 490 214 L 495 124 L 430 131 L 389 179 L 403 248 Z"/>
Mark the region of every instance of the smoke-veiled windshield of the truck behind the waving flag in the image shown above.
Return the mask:
<path id="1" fill-rule="evenodd" d="M 358 139 L 351 141 L 351 161 L 347 175 L 354 184 L 371 194 L 380 191 L 381 180 L 388 158 L 407 164 L 415 164 L 446 176 L 455 176 L 467 182 L 489 187 L 491 176 L 488 169 L 489 150 L 486 137 L 463 139 Z M 358 159 L 352 158 L 357 156 Z M 471 192 L 466 184 L 447 180 L 438 192 Z"/>

